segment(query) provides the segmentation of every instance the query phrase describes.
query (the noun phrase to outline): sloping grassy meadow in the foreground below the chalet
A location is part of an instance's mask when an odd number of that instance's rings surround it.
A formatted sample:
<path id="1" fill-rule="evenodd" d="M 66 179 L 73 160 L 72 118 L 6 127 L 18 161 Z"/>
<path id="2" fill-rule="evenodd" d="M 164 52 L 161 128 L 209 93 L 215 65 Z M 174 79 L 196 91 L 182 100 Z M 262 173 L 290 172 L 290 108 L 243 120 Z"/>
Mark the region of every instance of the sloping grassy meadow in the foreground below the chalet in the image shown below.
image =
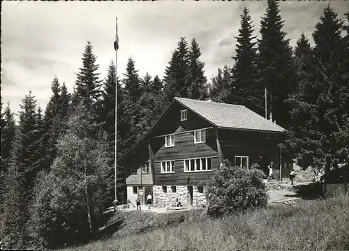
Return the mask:
<path id="1" fill-rule="evenodd" d="M 275 204 L 218 219 L 208 218 L 204 209 L 135 211 L 109 236 L 68 249 L 349 250 L 349 194 Z"/>

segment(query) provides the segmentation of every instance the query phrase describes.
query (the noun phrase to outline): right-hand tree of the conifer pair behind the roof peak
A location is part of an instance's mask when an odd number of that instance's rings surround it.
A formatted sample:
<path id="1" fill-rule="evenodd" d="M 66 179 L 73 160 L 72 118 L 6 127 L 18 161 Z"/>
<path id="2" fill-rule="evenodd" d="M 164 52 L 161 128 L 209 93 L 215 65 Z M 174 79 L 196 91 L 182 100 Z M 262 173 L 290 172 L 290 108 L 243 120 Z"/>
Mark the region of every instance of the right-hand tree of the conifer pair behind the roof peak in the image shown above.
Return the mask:
<path id="1" fill-rule="evenodd" d="M 207 98 L 207 78 L 205 77 L 205 63 L 199 60 L 200 47 L 195 38 L 191 40 L 191 48 L 188 52 L 188 98 L 205 100 Z"/>

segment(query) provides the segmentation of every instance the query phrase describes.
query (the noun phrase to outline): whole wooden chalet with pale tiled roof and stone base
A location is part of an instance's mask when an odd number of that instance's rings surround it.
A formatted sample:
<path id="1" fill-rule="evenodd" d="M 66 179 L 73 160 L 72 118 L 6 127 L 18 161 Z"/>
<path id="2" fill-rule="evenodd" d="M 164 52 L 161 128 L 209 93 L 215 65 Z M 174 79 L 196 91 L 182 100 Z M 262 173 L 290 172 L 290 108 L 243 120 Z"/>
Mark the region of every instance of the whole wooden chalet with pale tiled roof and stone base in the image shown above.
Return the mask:
<path id="1" fill-rule="evenodd" d="M 286 130 L 243 105 L 174 98 L 147 135 L 121 156 L 126 168 L 127 198 L 154 206 L 205 204 L 200 181 L 228 159 L 249 167 L 258 163 L 274 178 L 287 177 L 292 161 L 281 158 L 278 144 Z"/>

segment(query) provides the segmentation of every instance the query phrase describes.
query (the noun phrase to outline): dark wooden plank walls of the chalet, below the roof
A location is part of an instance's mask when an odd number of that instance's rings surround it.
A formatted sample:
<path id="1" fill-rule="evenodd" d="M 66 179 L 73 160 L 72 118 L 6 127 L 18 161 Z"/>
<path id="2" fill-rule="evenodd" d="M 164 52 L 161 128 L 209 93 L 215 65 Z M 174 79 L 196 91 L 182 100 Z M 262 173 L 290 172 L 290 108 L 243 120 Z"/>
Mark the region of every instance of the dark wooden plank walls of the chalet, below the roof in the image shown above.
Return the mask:
<path id="1" fill-rule="evenodd" d="M 181 111 L 184 109 L 187 111 L 186 120 L 181 121 Z M 205 130 L 205 142 L 195 143 L 195 130 Z M 174 134 L 174 146 L 165 146 L 165 136 L 170 134 Z M 242 160 L 242 157 L 248 157 L 248 166 L 257 163 L 261 169 L 273 161 L 274 174 L 279 179 L 278 144 L 282 141 L 281 133 L 217 128 L 181 103 L 172 102 L 170 109 L 146 137 L 121 158 L 118 165 L 127 169 L 126 185 L 143 188 L 153 185 L 195 185 L 206 180 L 212 174 L 209 170 L 185 172 L 185 160 L 195 158 L 202 158 L 202 162 L 207 158 L 207 162 L 211 161 L 212 169 L 223 160 L 237 165 L 237 160 Z M 166 161 L 174 165 L 172 172 L 162 172 L 162 162 Z M 134 165 L 138 168 L 137 172 Z M 142 172 L 145 165 L 149 165 L 147 173 Z"/>

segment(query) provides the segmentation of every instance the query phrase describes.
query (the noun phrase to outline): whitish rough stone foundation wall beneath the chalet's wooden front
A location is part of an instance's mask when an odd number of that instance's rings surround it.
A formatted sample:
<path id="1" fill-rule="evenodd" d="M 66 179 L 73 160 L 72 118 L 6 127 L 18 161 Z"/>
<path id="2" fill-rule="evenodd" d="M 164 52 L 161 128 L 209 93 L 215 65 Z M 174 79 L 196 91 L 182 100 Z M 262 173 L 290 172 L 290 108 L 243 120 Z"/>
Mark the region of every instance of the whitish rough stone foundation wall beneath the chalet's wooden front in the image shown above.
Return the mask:
<path id="1" fill-rule="evenodd" d="M 176 185 L 176 192 L 172 191 L 171 185 L 167 185 L 167 192 L 163 191 L 162 185 L 154 185 L 154 206 L 158 207 L 174 207 L 176 199 L 183 206 L 190 206 L 190 195 L 186 185 Z M 206 206 L 205 193 L 200 193 L 198 188 L 193 185 L 193 206 Z"/>

